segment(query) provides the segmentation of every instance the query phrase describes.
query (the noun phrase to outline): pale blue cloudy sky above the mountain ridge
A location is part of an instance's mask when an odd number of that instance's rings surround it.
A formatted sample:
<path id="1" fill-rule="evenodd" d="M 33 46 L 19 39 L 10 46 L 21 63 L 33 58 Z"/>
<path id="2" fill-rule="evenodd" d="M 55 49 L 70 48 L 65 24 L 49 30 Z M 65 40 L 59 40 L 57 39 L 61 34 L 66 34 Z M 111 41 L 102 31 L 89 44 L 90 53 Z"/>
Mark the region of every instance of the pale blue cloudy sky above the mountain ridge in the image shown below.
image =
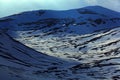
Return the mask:
<path id="1" fill-rule="evenodd" d="M 30 10 L 67 10 L 92 5 L 120 12 L 120 0 L 0 0 L 0 17 Z"/>

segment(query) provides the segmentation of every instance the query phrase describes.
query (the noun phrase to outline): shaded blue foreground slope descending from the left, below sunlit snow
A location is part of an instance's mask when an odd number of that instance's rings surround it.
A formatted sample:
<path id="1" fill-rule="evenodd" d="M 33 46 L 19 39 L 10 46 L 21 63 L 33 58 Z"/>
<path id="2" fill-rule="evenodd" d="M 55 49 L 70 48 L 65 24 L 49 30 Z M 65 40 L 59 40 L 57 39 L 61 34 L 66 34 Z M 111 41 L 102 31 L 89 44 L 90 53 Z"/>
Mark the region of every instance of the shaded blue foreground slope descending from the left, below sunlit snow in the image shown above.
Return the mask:
<path id="1" fill-rule="evenodd" d="M 101 63 L 102 62 L 103 61 L 101 61 Z M 100 62 L 96 61 L 95 64 L 97 63 Z M 64 61 L 55 57 L 50 57 L 48 55 L 38 53 L 33 49 L 28 48 L 23 44 L 13 40 L 9 35 L 5 34 L 3 31 L 0 32 L 0 78 L 2 80 L 99 79 L 99 77 L 96 78 L 96 76 L 99 75 L 99 72 L 96 72 L 96 75 L 94 76 L 88 75 L 90 74 L 90 72 L 94 72 L 94 69 L 90 67 L 92 66 L 90 64 L 91 63 L 73 63 L 71 60 Z M 95 67 L 99 66 L 96 65 Z M 80 72 L 78 72 L 79 69 Z M 81 72 L 81 69 L 84 69 L 84 72 Z M 103 71 L 108 71 L 107 69 Z M 111 74 L 106 75 L 110 76 Z M 108 78 L 107 76 L 106 79 Z"/>

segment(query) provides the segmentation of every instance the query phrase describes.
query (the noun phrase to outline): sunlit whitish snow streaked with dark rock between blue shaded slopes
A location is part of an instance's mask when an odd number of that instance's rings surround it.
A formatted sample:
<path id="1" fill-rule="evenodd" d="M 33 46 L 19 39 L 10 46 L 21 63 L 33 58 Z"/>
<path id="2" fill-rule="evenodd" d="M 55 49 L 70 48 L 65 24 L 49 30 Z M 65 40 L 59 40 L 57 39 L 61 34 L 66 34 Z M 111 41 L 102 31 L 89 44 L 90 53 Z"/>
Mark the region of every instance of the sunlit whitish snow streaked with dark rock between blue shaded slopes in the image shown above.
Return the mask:
<path id="1" fill-rule="evenodd" d="M 19 32 L 24 34 L 23 32 Z M 30 32 L 28 32 L 30 33 Z M 21 35 L 22 35 L 21 34 Z M 27 46 L 52 56 L 80 60 L 100 58 L 119 54 L 120 28 L 86 35 L 67 35 L 64 37 L 24 37 L 17 38 Z M 109 56 L 108 56 L 109 57 Z M 85 59 L 86 60 L 86 59 Z"/>

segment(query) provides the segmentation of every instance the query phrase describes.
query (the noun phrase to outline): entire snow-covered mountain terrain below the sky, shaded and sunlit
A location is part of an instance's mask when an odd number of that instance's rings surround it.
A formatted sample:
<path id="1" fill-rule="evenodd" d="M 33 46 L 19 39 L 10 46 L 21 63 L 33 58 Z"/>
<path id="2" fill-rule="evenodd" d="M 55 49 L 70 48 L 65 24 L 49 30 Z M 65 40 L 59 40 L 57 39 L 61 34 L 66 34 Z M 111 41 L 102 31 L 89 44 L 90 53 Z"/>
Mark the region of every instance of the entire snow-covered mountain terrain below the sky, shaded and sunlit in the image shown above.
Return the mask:
<path id="1" fill-rule="evenodd" d="M 0 70 L 9 79 L 120 79 L 118 12 L 100 6 L 31 11 L 0 19 L 0 28 L 22 43 L 1 32 Z"/>

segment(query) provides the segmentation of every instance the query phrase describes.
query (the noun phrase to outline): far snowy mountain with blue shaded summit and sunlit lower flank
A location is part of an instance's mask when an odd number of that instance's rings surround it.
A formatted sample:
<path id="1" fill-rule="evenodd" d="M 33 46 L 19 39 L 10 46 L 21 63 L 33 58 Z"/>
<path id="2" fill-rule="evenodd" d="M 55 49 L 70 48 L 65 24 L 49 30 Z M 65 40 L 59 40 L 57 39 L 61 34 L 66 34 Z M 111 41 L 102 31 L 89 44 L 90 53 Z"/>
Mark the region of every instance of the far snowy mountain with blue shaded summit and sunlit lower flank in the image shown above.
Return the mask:
<path id="1" fill-rule="evenodd" d="M 2 18 L 0 25 L 4 25 L 0 28 L 25 45 L 62 58 L 85 53 L 105 53 L 113 47 L 119 47 L 119 44 L 109 46 L 109 43 L 117 40 L 119 43 L 119 31 L 109 30 L 119 30 L 120 13 L 100 6 L 67 11 L 24 12 Z M 107 46 L 105 49 L 104 45 Z"/>

